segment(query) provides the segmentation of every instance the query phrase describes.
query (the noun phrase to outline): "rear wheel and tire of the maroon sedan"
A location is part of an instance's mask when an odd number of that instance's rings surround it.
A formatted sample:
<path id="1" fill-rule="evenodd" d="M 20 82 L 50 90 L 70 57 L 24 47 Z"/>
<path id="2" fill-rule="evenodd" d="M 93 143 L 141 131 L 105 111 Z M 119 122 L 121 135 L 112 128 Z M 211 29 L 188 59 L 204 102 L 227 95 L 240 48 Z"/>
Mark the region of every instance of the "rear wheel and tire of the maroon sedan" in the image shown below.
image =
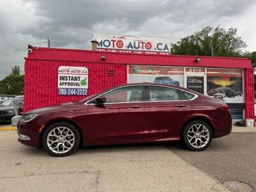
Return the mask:
<path id="1" fill-rule="evenodd" d="M 182 130 L 182 141 L 189 150 L 205 150 L 211 144 L 212 129 L 203 120 L 193 120 Z"/>

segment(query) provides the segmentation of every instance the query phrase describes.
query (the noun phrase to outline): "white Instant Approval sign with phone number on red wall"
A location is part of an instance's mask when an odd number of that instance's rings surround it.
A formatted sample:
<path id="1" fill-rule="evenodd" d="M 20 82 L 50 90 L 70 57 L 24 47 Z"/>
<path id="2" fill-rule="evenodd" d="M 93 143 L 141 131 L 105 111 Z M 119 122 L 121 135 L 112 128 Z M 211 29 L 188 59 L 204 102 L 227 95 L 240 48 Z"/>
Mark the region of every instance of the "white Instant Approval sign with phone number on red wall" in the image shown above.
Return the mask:
<path id="1" fill-rule="evenodd" d="M 60 66 L 58 68 L 59 95 L 87 95 L 88 68 Z"/>

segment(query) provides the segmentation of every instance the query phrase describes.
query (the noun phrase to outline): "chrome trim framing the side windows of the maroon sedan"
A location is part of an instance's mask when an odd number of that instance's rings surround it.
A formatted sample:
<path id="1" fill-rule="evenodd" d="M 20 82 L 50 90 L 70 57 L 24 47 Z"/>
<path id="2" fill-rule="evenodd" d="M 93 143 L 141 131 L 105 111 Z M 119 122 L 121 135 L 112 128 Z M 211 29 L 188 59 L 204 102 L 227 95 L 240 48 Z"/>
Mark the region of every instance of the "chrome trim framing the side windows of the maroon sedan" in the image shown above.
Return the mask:
<path id="1" fill-rule="evenodd" d="M 159 85 L 159 84 L 127 84 L 127 85 L 124 85 L 124 86 L 119 86 L 118 88 L 123 88 L 123 87 L 127 87 L 127 86 L 162 86 L 162 87 L 166 87 L 166 88 L 173 88 L 173 87 L 170 87 L 170 86 L 164 86 L 164 85 Z M 113 90 L 116 90 L 118 88 L 113 88 L 111 90 L 109 90 L 108 92 L 104 92 L 100 95 L 98 95 L 97 97 L 94 97 L 93 99 L 97 99 L 98 97 L 100 97 L 101 95 L 104 95 L 106 93 L 109 93 L 109 92 L 112 92 Z M 188 91 L 185 91 L 185 90 L 182 90 L 182 89 L 179 89 L 179 88 L 173 88 L 175 90 L 180 90 L 181 92 L 186 92 L 186 93 L 190 93 L 192 95 L 194 95 L 195 97 L 193 97 L 192 99 L 189 99 L 189 100 L 141 100 L 141 101 L 132 101 L 132 102 L 108 102 L 108 103 L 104 103 L 104 104 L 122 104 L 122 103 L 138 103 L 138 102 L 177 102 L 177 101 L 191 101 L 191 100 L 195 100 L 198 95 L 196 95 L 195 93 L 191 93 L 191 92 L 188 92 Z M 84 105 L 89 105 L 88 102 L 91 102 L 93 99 L 90 99 L 88 100 L 87 102 L 84 103 Z M 96 104 L 91 104 L 91 105 L 96 105 Z"/>

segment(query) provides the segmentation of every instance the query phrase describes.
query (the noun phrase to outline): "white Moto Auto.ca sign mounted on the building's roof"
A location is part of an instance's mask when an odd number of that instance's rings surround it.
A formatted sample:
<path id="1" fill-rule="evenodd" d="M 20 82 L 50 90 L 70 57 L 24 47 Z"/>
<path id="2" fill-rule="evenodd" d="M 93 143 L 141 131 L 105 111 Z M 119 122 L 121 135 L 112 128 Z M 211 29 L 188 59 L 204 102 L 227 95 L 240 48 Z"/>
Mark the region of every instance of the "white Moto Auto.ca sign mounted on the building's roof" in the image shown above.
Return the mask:
<path id="1" fill-rule="evenodd" d="M 93 33 L 98 51 L 170 54 L 170 38 Z"/>

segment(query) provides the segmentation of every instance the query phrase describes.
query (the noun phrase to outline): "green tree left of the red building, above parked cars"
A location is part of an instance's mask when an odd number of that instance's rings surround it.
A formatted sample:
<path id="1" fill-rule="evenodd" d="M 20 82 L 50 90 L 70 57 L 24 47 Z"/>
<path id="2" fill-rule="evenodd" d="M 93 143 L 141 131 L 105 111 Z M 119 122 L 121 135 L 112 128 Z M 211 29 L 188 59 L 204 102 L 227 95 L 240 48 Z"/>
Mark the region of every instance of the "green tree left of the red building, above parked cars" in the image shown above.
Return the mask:
<path id="1" fill-rule="evenodd" d="M 24 75 L 10 74 L 0 81 L 0 94 L 22 95 L 24 89 Z"/>

